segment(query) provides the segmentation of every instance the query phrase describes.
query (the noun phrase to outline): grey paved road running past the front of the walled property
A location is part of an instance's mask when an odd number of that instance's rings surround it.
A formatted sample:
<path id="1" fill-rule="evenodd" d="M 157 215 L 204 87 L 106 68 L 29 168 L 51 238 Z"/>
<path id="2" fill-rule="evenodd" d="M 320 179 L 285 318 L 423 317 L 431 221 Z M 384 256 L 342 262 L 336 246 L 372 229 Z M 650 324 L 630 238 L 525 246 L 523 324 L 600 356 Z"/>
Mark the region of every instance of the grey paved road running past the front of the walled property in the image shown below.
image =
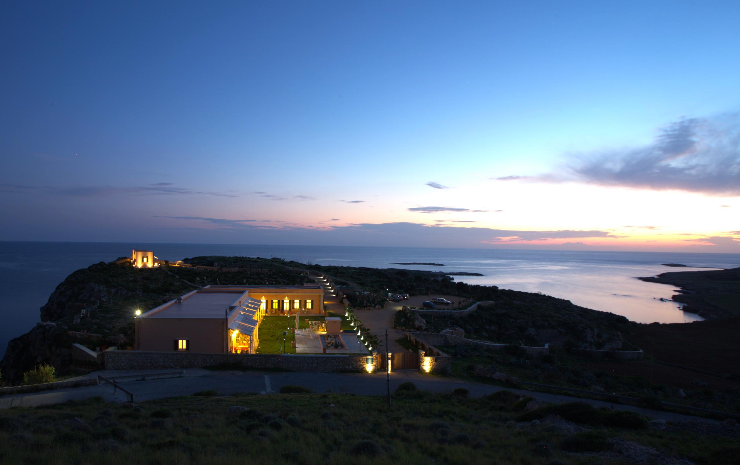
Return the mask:
<path id="1" fill-rule="evenodd" d="M 161 370 L 141 370 L 136 373 L 144 375 Z M 106 377 L 116 375 L 129 375 L 133 372 L 104 370 L 91 373 L 81 378 L 96 377 L 101 374 Z M 449 392 L 456 387 L 464 387 L 470 391 L 472 397 L 491 394 L 505 388 L 492 386 L 490 384 L 470 383 L 453 378 L 441 378 L 433 375 L 425 375 L 415 370 L 399 371 L 391 373 L 391 392 L 399 384 L 405 381 L 413 381 L 419 389 L 429 392 Z M 280 387 L 287 384 L 297 384 L 309 387 L 314 392 L 348 392 L 358 395 L 385 395 L 386 375 L 385 373 L 315 373 L 315 372 L 237 372 L 222 371 L 214 372 L 206 369 L 186 370 L 185 378 L 152 379 L 147 381 L 125 380 L 121 385 L 132 391 L 136 401 L 149 401 L 157 398 L 172 397 L 175 395 L 192 395 L 193 392 L 205 389 L 216 389 L 220 395 L 232 395 L 237 392 L 258 392 L 260 394 L 279 392 Z M 622 404 L 611 404 L 606 401 L 594 401 L 591 399 L 573 398 L 568 395 L 548 394 L 544 392 L 530 392 L 522 389 L 508 389 L 521 395 L 531 395 L 543 402 L 562 403 L 572 401 L 584 401 L 596 407 L 609 407 L 618 410 L 630 410 L 639 412 L 649 418 L 663 420 L 701 420 L 711 423 L 717 421 L 697 418 L 679 413 L 661 412 L 658 410 L 643 409 Z M 44 404 L 58 404 L 70 399 L 84 399 L 95 395 L 102 396 L 107 401 L 125 402 L 126 396 L 120 391 L 116 394 L 110 385 L 78 387 L 70 389 L 58 389 L 50 392 L 38 392 L 35 394 L 4 396 L 0 397 L 0 408 L 13 406 L 34 407 Z"/>

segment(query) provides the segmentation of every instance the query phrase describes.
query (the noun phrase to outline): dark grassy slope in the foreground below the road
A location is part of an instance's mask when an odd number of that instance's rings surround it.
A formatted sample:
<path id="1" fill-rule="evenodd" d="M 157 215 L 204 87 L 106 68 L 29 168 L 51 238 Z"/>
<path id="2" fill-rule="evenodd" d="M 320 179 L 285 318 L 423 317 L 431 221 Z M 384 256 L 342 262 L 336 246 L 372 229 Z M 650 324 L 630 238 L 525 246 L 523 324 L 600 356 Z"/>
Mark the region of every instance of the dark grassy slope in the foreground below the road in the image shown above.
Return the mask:
<path id="1" fill-rule="evenodd" d="M 573 435 L 562 429 L 515 426 L 520 401 L 509 394 L 471 399 L 406 389 L 394 394 L 391 409 L 383 397 L 349 394 L 181 396 L 137 407 L 94 398 L 19 407 L 0 412 L 0 462 L 630 463 L 563 451 L 564 441 L 566 449 L 576 450 L 584 441 L 566 441 Z M 242 408 L 229 411 L 232 406 Z M 727 438 L 710 435 L 602 425 L 588 430 L 595 438 L 629 438 L 697 464 L 730 463 L 737 449 Z"/>

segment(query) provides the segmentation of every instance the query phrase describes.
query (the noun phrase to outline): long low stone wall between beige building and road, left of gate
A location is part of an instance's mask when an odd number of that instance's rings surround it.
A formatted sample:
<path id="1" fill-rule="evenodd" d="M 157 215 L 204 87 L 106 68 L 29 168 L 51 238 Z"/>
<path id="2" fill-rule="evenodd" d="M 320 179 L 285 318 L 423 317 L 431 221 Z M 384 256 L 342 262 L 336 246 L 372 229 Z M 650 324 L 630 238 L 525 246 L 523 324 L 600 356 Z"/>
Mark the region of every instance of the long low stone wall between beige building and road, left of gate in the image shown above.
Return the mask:
<path id="1" fill-rule="evenodd" d="M 294 372 L 366 371 L 366 358 L 371 355 L 303 355 L 303 354 L 200 354 L 190 352 L 143 352 L 114 350 L 104 352 L 105 369 L 195 368 L 235 365 L 253 369 L 284 369 Z"/>

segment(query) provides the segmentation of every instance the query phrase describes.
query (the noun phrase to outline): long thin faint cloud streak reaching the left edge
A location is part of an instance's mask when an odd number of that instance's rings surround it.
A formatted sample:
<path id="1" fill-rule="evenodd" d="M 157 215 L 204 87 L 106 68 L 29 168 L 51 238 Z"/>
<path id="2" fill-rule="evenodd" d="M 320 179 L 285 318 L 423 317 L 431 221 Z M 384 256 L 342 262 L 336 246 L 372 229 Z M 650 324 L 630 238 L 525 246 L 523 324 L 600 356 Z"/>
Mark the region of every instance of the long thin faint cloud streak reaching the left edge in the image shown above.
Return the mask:
<path id="1" fill-rule="evenodd" d="M 216 197 L 238 197 L 238 195 L 192 190 L 184 187 L 172 187 L 171 183 L 149 184 L 149 186 L 116 187 L 116 186 L 19 186 L 0 184 L 3 193 L 46 193 L 55 195 L 73 195 L 77 197 L 98 197 L 101 195 L 213 195 Z"/>

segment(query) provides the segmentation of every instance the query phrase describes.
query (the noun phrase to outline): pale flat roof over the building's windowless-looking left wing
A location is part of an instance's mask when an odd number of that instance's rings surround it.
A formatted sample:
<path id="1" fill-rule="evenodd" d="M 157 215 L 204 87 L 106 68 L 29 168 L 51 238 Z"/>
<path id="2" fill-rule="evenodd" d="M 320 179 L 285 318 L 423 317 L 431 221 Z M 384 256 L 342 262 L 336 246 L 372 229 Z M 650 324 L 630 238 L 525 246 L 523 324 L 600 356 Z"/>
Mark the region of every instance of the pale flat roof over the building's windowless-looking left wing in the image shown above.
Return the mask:
<path id="1" fill-rule="evenodd" d="M 238 290 L 196 290 L 149 310 L 138 318 L 225 318 L 225 310 L 236 304 L 246 292 Z"/>

